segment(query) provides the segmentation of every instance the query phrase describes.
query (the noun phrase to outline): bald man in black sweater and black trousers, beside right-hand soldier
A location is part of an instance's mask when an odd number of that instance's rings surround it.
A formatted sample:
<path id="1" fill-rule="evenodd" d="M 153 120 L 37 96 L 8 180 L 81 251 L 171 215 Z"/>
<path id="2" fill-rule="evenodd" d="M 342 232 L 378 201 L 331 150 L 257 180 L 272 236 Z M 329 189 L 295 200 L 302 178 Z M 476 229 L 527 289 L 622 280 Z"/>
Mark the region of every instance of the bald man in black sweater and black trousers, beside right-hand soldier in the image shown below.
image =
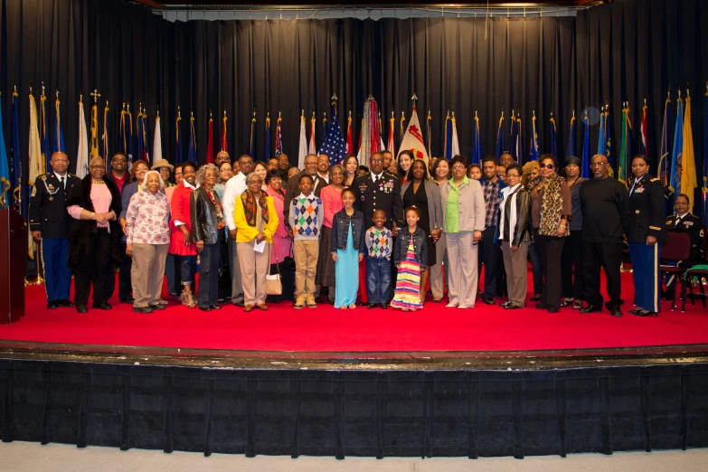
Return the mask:
<path id="1" fill-rule="evenodd" d="M 599 268 L 605 269 L 609 301 L 605 305 L 612 316 L 622 316 L 620 306 L 623 227 L 628 222 L 627 188 L 609 178 L 607 156 L 596 154 L 590 161 L 592 179 L 581 186 L 582 208 L 582 281 L 586 307 L 581 313 L 602 311 L 599 292 Z"/>

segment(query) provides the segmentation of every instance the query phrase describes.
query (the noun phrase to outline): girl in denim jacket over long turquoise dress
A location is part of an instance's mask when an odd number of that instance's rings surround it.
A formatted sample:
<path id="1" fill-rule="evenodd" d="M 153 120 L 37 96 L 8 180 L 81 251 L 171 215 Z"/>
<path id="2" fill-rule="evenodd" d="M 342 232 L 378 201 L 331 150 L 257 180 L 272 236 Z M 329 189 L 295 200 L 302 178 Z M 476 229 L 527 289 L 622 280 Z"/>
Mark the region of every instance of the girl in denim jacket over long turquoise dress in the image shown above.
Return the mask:
<path id="1" fill-rule="evenodd" d="M 332 222 L 332 260 L 335 261 L 335 308 L 354 309 L 359 290 L 359 262 L 363 260 L 363 213 L 354 210 L 354 190 L 342 191 L 345 207 Z"/>

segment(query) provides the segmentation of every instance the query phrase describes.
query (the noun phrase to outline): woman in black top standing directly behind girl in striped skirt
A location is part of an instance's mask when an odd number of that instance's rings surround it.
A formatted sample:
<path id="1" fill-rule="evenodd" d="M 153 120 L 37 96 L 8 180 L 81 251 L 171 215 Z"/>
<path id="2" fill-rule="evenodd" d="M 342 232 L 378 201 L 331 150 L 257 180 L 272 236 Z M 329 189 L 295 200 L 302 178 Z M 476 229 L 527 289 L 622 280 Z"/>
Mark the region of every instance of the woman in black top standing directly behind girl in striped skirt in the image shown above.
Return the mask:
<path id="1" fill-rule="evenodd" d="M 442 208 L 440 207 L 440 190 L 437 184 L 430 182 L 428 166 L 422 159 L 416 159 L 411 164 L 409 174 L 411 180 L 401 186 L 403 208 L 415 206 L 420 210 L 418 225 L 425 232 L 427 242 L 428 264 L 420 273 L 420 303 L 425 302 L 425 286 L 430 277 L 430 266 L 436 262 L 435 243 L 442 234 Z"/>

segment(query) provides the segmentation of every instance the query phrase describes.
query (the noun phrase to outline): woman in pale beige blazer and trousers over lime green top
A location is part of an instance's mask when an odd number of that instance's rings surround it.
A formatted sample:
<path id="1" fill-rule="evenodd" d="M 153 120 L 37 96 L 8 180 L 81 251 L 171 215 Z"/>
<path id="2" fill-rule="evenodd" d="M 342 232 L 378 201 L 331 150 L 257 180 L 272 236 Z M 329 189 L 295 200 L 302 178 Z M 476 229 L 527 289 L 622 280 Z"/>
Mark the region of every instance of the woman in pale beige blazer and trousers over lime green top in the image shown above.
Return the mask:
<path id="1" fill-rule="evenodd" d="M 442 231 L 448 243 L 448 307 L 475 307 L 477 249 L 485 230 L 485 197 L 482 185 L 466 175 L 462 156 L 450 160 L 452 179 L 440 186 Z"/>

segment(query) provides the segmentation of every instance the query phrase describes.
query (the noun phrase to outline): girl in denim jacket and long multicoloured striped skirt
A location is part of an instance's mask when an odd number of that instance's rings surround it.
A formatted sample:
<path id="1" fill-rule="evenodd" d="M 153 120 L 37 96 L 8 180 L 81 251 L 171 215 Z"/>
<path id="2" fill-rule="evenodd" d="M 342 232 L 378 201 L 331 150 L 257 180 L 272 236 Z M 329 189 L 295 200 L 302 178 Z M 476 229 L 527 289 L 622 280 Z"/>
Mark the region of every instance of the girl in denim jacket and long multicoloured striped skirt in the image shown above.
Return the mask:
<path id="1" fill-rule="evenodd" d="M 393 251 L 398 278 L 391 306 L 403 311 L 415 311 L 423 307 L 420 301 L 420 272 L 427 266 L 428 253 L 425 232 L 418 227 L 419 220 L 418 208 L 406 208 L 408 226 L 398 233 L 398 243 Z"/>

